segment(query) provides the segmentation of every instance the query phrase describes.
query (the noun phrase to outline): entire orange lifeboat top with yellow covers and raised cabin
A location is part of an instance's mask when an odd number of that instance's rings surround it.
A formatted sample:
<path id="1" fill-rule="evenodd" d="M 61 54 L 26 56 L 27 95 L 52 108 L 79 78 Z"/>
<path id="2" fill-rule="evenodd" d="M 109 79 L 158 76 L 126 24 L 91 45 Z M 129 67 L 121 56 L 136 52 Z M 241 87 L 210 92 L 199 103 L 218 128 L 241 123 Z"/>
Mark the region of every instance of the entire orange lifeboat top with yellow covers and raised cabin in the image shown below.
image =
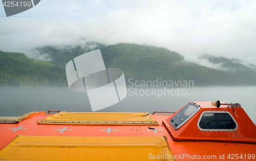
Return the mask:
<path id="1" fill-rule="evenodd" d="M 153 114 L 32 112 L 0 117 L 0 150 L 0 160 L 255 160 L 256 126 L 239 103 L 220 101 Z"/>

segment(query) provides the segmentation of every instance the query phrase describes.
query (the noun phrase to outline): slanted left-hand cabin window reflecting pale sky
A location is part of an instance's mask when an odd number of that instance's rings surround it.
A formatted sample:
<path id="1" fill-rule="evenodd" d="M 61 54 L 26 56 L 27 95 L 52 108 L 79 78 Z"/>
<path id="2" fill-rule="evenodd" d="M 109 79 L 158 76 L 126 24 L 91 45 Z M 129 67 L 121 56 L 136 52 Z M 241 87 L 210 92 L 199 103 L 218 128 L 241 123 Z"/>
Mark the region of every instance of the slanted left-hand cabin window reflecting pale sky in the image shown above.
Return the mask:
<path id="1" fill-rule="evenodd" d="M 191 117 L 193 117 L 199 110 L 200 105 L 193 102 L 188 103 L 178 114 L 170 119 L 170 124 L 172 124 L 175 129 L 178 129 Z"/>

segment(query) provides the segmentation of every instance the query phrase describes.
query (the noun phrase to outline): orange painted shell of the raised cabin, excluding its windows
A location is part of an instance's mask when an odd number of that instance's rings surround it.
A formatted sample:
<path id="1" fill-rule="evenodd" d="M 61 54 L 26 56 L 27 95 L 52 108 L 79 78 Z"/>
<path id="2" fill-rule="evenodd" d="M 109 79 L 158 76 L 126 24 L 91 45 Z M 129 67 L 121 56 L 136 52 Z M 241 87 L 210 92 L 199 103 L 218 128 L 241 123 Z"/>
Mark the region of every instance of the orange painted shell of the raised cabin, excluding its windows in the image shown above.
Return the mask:
<path id="1" fill-rule="evenodd" d="M 256 143 L 256 126 L 245 113 L 243 108 L 227 108 L 227 105 L 221 105 L 220 108 L 211 106 L 211 102 L 195 102 L 200 105 L 200 110 L 190 118 L 183 126 L 175 130 L 170 125 L 173 116 L 163 120 L 164 125 L 169 130 L 175 140 L 209 140 L 226 142 L 248 142 Z M 238 129 L 235 131 L 202 131 L 198 128 L 198 121 L 205 111 L 227 111 L 238 123 Z"/>

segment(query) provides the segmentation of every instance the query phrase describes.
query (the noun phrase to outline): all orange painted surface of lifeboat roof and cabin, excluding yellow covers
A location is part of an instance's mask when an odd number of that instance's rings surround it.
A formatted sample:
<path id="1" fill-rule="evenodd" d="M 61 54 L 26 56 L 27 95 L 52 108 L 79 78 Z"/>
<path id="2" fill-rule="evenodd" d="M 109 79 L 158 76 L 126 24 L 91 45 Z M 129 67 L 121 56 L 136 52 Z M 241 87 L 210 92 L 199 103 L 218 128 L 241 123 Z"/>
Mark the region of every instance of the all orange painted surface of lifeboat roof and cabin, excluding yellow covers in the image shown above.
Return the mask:
<path id="1" fill-rule="evenodd" d="M 217 109 L 209 102 L 196 102 L 201 111 L 179 129 L 171 129 L 169 119 L 174 115 L 152 115 L 159 125 L 55 125 L 38 124 L 52 114 L 35 113 L 17 124 L 0 124 L 0 150 L 12 142 L 17 135 L 23 136 L 71 136 L 71 137 L 153 137 L 166 136 L 175 160 L 189 160 L 199 156 L 207 160 L 253 160 L 256 154 L 256 126 L 242 108 L 221 106 Z M 238 123 L 236 131 L 201 131 L 197 121 L 203 111 L 226 110 Z M 248 123 L 249 122 L 249 123 Z M 253 126 L 252 126 L 253 125 Z M 150 126 L 150 129 L 148 128 Z M 168 128 L 169 127 L 169 128 Z M 173 132 L 171 132 L 173 131 Z M 233 133 L 232 133 L 233 132 Z M 236 132 L 236 133 L 234 133 Z M 177 139 L 178 138 L 178 139 Z M 213 139 L 214 138 L 214 139 Z M 217 141 L 217 138 L 219 139 Z M 230 140 L 231 139 L 231 140 Z M 251 140 L 251 143 L 248 142 Z M 234 156 L 233 156 L 234 155 Z M 239 156 L 239 158 L 237 158 Z M 250 158 L 249 158 L 250 156 Z M 228 158 L 229 157 L 229 158 Z M 154 160 L 148 156 L 149 160 Z"/>

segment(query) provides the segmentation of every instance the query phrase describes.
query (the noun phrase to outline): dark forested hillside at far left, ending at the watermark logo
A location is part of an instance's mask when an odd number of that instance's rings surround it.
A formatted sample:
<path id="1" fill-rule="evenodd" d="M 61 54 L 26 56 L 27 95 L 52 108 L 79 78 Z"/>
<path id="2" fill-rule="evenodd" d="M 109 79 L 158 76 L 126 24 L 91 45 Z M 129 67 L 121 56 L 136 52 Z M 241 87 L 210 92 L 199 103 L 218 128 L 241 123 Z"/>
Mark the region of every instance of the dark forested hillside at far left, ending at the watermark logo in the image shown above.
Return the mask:
<path id="1" fill-rule="evenodd" d="M 64 67 L 0 50 L 0 86 L 66 86 Z"/>

